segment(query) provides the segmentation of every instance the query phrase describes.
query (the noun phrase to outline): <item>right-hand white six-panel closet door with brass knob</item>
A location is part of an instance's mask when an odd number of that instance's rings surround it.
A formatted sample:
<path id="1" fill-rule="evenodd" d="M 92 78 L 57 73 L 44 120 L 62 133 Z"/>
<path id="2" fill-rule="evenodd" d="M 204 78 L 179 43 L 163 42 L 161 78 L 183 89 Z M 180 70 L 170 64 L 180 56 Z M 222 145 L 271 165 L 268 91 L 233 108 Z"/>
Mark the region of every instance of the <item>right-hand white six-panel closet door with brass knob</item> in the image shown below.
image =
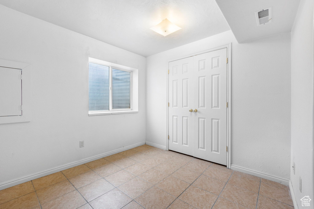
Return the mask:
<path id="1" fill-rule="evenodd" d="M 227 164 L 227 48 L 194 56 L 193 156 Z M 191 106 L 192 107 L 192 106 Z"/>

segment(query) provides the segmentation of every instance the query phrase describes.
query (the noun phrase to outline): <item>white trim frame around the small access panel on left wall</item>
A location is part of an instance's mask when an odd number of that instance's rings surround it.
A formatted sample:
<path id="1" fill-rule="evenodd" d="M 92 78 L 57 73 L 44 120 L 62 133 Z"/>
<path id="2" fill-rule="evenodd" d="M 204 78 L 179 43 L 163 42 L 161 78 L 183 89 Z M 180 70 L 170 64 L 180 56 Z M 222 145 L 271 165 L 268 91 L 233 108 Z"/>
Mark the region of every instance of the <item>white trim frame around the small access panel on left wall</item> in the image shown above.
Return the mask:
<path id="1" fill-rule="evenodd" d="M 0 60 L 0 67 L 15 68 L 22 70 L 22 115 L 2 116 L 0 124 L 3 123 L 20 123 L 31 120 L 31 65 L 22 62 L 10 60 Z"/>

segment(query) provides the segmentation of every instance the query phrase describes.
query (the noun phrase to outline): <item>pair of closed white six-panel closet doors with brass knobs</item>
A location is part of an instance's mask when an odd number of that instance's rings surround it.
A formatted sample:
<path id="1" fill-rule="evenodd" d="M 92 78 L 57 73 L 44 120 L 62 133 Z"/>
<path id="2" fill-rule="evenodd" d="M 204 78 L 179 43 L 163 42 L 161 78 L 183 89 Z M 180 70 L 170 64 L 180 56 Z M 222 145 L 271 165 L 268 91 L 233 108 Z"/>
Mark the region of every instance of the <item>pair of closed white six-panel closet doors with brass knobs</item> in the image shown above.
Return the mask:
<path id="1" fill-rule="evenodd" d="M 169 62 L 169 149 L 227 164 L 227 48 Z"/>

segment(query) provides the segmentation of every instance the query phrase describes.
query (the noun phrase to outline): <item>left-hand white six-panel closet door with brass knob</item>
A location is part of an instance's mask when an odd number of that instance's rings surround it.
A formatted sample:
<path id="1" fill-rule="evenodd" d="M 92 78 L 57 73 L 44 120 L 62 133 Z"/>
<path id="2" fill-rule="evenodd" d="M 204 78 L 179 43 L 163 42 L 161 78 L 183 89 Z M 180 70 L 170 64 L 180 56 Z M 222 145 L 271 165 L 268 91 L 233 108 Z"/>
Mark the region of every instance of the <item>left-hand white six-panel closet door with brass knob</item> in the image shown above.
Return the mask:
<path id="1" fill-rule="evenodd" d="M 169 62 L 169 149 L 193 155 L 193 57 Z"/>

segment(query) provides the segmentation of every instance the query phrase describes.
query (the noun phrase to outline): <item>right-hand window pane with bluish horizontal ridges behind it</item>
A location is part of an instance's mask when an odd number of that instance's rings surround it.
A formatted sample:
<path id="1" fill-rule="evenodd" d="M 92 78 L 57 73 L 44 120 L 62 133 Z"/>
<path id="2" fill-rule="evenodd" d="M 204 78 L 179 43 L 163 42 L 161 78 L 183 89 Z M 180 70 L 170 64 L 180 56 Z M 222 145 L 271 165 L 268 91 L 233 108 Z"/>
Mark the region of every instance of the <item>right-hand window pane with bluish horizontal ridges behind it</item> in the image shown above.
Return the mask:
<path id="1" fill-rule="evenodd" d="M 130 108 L 131 73 L 112 69 L 112 108 Z"/>

